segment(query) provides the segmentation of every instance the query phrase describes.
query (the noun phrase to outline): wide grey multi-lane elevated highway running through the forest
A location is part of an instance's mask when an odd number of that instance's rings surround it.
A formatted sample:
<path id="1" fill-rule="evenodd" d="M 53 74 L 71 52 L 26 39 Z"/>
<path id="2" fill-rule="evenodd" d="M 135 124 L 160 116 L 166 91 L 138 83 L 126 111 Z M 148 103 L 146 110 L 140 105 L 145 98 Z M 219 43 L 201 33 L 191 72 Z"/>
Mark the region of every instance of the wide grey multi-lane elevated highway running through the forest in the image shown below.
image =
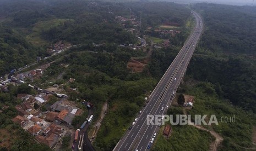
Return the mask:
<path id="1" fill-rule="evenodd" d="M 147 150 L 148 145 L 151 148 L 151 138 L 154 133 L 159 131 L 160 127 L 157 123 L 156 125 L 147 124 L 146 118 L 148 115 L 162 116 L 167 111 L 166 107 L 170 106 L 172 98 L 176 94 L 203 30 L 203 22 L 200 16 L 194 11 L 192 11 L 192 14 L 196 20 L 193 32 L 149 96 L 148 104 L 143 108 L 142 113 L 136 117 L 138 120 L 132 125 L 132 129 L 126 131 L 114 150 Z M 153 121 L 155 123 L 155 120 Z"/>

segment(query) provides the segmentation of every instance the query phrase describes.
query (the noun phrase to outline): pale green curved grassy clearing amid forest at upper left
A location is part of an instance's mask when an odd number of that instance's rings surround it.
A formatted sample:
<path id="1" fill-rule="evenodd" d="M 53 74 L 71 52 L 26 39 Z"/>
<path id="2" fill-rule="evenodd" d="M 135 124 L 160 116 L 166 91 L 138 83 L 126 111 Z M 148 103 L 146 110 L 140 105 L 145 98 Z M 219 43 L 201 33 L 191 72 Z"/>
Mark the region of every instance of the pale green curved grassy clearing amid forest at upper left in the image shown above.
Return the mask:
<path id="1" fill-rule="evenodd" d="M 46 21 L 39 21 L 32 28 L 32 33 L 26 36 L 26 39 L 28 39 L 31 43 L 34 43 L 36 45 L 45 45 L 47 44 L 47 41 L 41 38 L 41 32 L 43 30 L 48 30 L 51 27 L 63 24 L 63 22 L 67 20 L 69 19 L 51 19 Z"/>

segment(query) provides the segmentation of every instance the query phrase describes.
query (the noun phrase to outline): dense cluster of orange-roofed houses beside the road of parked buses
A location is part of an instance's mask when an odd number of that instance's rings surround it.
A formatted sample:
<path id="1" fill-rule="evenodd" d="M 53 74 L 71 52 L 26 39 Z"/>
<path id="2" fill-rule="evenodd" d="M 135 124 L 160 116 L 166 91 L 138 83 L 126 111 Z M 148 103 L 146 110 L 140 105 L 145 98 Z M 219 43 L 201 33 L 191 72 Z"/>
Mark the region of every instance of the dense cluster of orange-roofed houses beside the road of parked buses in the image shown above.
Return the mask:
<path id="1" fill-rule="evenodd" d="M 18 115 L 12 121 L 35 136 L 37 142 L 54 148 L 64 133 L 66 133 L 66 130 L 72 128 L 71 123 L 75 115 L 82 114 L 83 110 L 69 106 L 67 98 L 61 98 L 61 100 L 54 104 L 47 105 L 50 96 L 51 94 L 43 93 L 36 96 L 18 94 L 17 97 L 23 103 L 15 106 Z M 66 104 L 63 102 L 66 102 Z M 39 104 L 39 108 L 40 106 L 46 106 L 47 111 L 38 111 L 34 108 L 35 103 Z"/>

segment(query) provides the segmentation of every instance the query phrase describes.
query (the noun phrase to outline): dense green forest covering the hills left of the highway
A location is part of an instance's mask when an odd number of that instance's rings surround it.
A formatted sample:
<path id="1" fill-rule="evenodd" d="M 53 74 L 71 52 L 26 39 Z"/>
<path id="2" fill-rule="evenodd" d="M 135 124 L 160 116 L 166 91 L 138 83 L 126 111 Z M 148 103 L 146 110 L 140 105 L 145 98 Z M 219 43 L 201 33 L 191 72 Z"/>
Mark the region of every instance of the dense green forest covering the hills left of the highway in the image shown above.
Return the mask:
<path id="1" fill-rule="evenodd" d="M 140 12 L 142 12 L 142 25 L 141 28 L 136 27 L 139 31 L 137 35 L 127 31 L 115 20 L 116 16 L 125 18 L 133 16 L 139 20 Z M 95 119 L 99 117 L 102 104 L 108 101 L 111 111 L 102 121 L 103 128 L 99 131 L 95 147 L 112 150 L 116 141 L 123 135 L 123 129 L 127 128 L 134 114 L 144 105 L 144 97 L 154 89 L 157 78 L 164 70 L 164 67 L 161 68 L 161 72 L 145 68 L 144 72 L 131 73 L 127 68 L 130 57 L 145 56 L 145 52 L 117 46 L 137 44 L 137 37 L 141 36 L 148 26 L 158 27 L 175 22 L 178 26 L 185 27 L 190 10 L 182 5 L 167 2 L 4 0 L 0 2 L 0 15 L 1 76 L 9 73 L 11 69 L 30 65 L 36 61 L 37 56 L 49 56 L 47 48 L 59 40 L 63 43 L 78 45 L 64 55 L 53 56 L 47 60 L 55 62 L 43 72 L 40 79 L 34 80 L 31 84 L 47 88 L 48 85 L 45 83 L 49 80 L 55 81 L 52 84 L 64 83 L 63 89 L 67 92 L 70 101 L 81 103 L 81 100 L 88 100 L 95 104 Z M 188 32 L 189 30 L 184 30 L 179 38 L 171 40 L 177 44 L 179 40 L 184 42 Z M 95 47 L 97 43 L 103 43 L 103 45 Z M 178 49 L 175 45 L 171 49 L 171 54 L 167 56 L 174 58 Z M 105 53 L 102 52 L 104 50 Z M 157 51 L 153 54 L 157 59 L 165 57 L 165 54 L 159 54 Z M 39 62 L 39 65 L 47 61 Z M 165 67 L 170 62 L 171 60 L 166 60 Z M 56 80 L 59 75 L 63 76 Z M 152 75 L 157 78 L 155 79 Z M 76 80 L 74 83 L 67 84 L 69 78 Z M 72 90 L 73 88 L 77 91 Z M 21 103 L 21 100 L 16 99 L 19 93 L 33 95 L 36 91 L 28 88 L 28 85 L 11 85 L 8 86 L 8 92 L 0 92 L 0 107 L 9 106 L 0 113 L 0 130 L 3 133 L 11 129 L 15 130 L 11 133 L 12 137 L 4 135 L 4 137 L 13 138 L 10 142 L 12 147 L 8 149 L 49 150 L 44 145 L 26 143 L 31 142 L 34 137 L 28 137 L 27 132 L 10 120 L 17 115 L 14 106 Z M 56 99 L 50 102 L 54 101 Z M 45 111 L 43 107 L 41 109 Z M 108 122 L 108 119 L 113 119 L 117 115 L 117 120 Z M 72 124 L 77 126 L 83 120 L 75 118 Z M 114 125 L 118 129 L 117 133 L 111 129 Z M 13 137 L 18 132 L 21 133 L 20 137 Z M 22 140 L 22 137 L 26 139 Z"/>

